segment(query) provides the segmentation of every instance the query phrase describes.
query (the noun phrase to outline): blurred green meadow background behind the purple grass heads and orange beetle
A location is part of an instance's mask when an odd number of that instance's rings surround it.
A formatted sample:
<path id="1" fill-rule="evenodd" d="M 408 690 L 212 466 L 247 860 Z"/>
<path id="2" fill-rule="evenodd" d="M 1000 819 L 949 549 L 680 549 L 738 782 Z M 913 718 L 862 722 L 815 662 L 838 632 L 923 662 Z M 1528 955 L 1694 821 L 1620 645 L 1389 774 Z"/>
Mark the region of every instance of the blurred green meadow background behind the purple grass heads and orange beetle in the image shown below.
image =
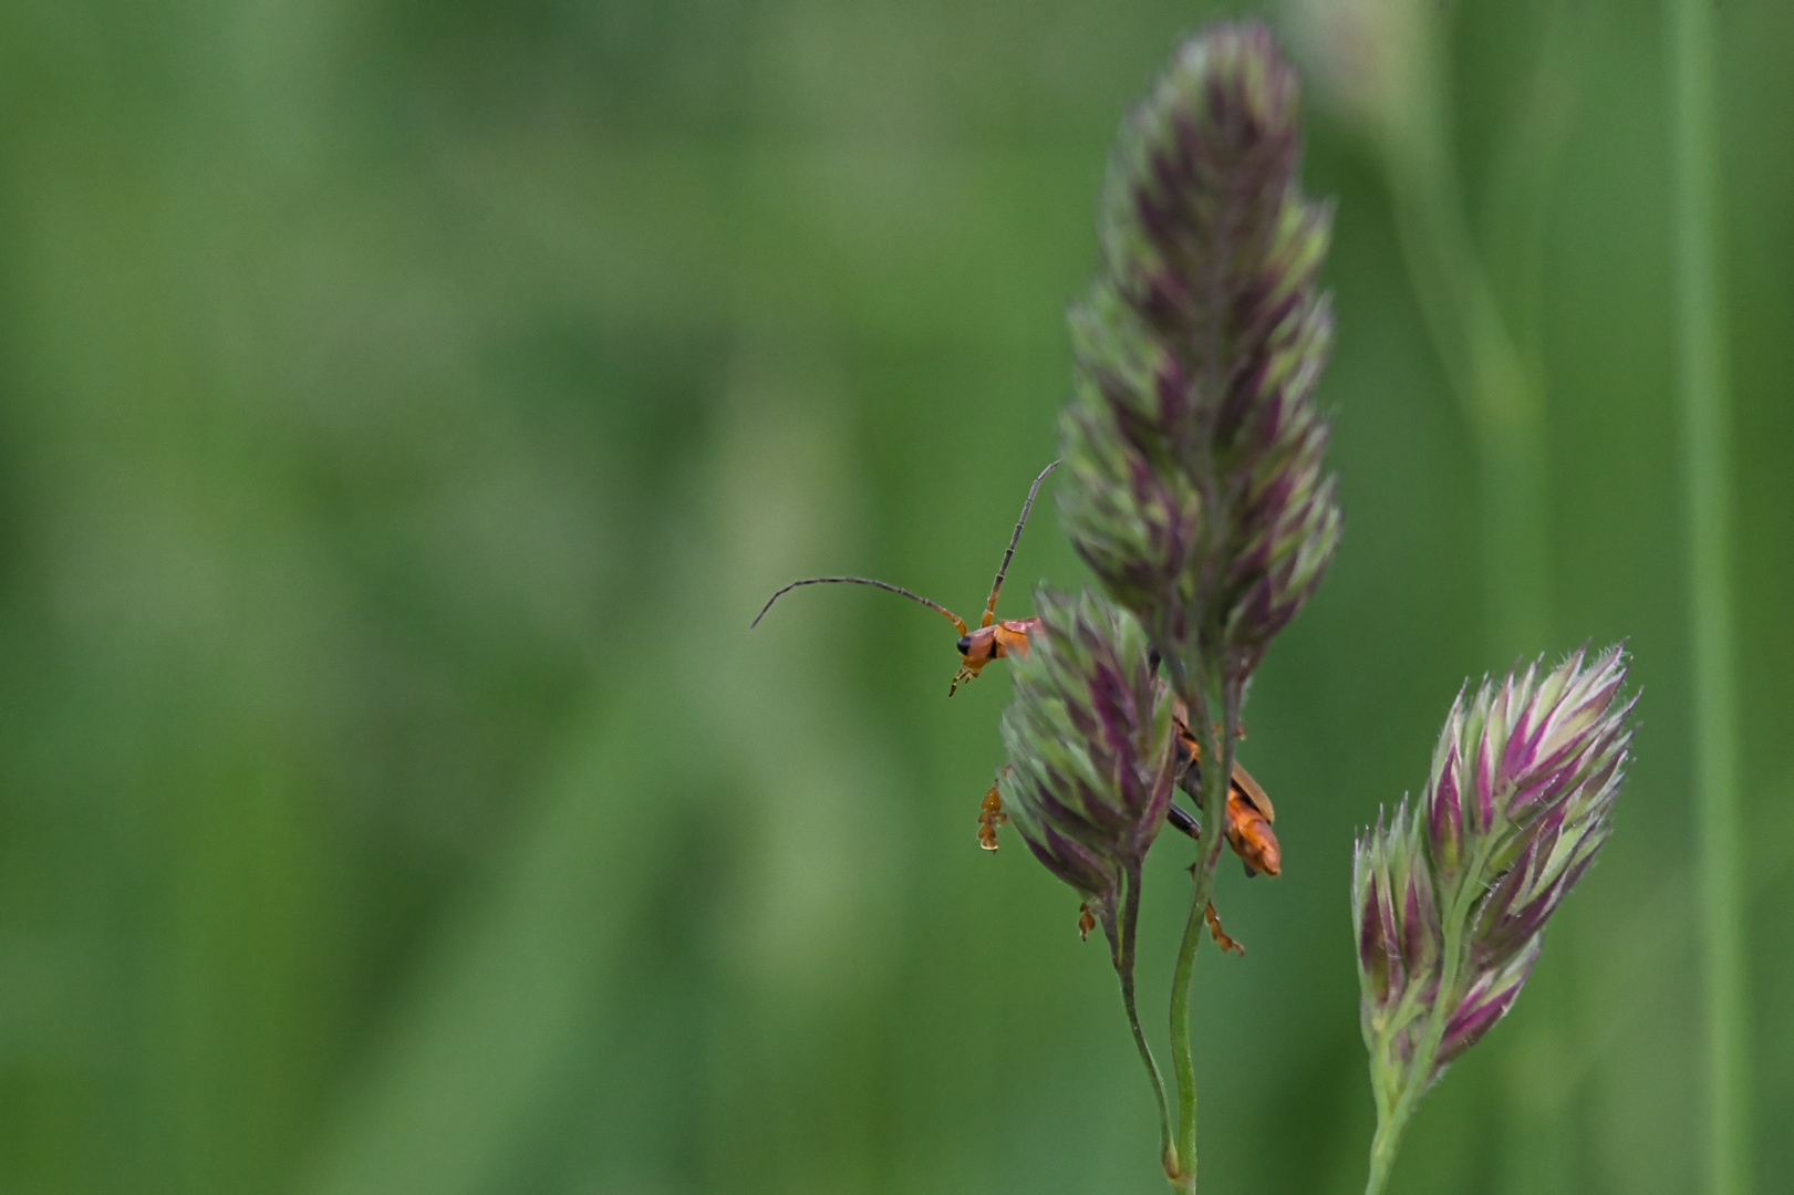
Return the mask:
<path id="1" fill-rule="evenodd" d="M 0 1190 L 1157 1191 L 1076 901 L 974 843 L 953 702 L 1069 382 L 1110 133 L 1188 2 L 0 7 Z M 1699 1008 L 1656 4 L 1448 9 L 1545 379 L 1550 641 L 1638 763 L 1398 1191 L 1692 1191 Z M 1794 9 L 1728 0 L 1758 1190 L 1794 1186 Z M 1550 120 L 1521 120 L 1539 63 Z M 1539 133 L 1543 129 L 1543 133 Z M 1537 140 L 1543 136 L 1543 142 Z M 1534 138 L 1534 140 L 1528 140 Z M 1487 633 L 1475 450 L 1381 174 L 1337 196 L 1347 535 L 1243 759 L 1286 872 L 1204 953 L 1207 1191 L 1356 1191 L 1349 840 Z M 1039 508 L 1005 610 L 1085 574 Z M 1155 852 L 1143 1001 L 1182 850 Z"/>

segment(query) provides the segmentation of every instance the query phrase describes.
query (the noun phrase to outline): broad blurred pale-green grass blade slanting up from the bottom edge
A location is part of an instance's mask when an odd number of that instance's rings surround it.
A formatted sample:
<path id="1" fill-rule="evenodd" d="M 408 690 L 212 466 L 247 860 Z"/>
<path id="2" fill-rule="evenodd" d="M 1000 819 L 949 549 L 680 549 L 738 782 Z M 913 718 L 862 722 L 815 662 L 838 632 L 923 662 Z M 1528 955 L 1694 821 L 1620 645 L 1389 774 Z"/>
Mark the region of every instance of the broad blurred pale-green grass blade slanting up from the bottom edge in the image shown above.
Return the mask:
<path id="1" fill-rule="evenodd" d="M 533 1125 L 578 1077 L 579 1041 L 606 1019 L 603 962 L 639 922 L 678 818 L 657 741 L 666 705 L 642 693 L 578 736 L 484 903 L 429 969 L 371 1082 L 341 1109 L 310 1195 L 515 1190 Z"/>

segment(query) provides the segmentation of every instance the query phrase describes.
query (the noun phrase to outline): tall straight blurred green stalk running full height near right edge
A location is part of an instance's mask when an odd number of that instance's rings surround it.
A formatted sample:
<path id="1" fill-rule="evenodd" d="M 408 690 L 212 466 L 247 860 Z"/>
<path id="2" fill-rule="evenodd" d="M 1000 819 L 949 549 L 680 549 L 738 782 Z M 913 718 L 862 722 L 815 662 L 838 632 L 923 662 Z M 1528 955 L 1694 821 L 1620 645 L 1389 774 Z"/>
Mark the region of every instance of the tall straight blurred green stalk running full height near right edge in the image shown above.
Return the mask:
<path id="1" fill-rule="evenodd" d="M 1713 154 L 1713 18 L 1708 0 L 1667 0 L 1676 224 L 1676 341 L 1688 535 L 1695 809 L 1704 946 L 1706 1191 L 1749 1190 L 1744 850 L 1733 675 L 1719 167 Z"/>

